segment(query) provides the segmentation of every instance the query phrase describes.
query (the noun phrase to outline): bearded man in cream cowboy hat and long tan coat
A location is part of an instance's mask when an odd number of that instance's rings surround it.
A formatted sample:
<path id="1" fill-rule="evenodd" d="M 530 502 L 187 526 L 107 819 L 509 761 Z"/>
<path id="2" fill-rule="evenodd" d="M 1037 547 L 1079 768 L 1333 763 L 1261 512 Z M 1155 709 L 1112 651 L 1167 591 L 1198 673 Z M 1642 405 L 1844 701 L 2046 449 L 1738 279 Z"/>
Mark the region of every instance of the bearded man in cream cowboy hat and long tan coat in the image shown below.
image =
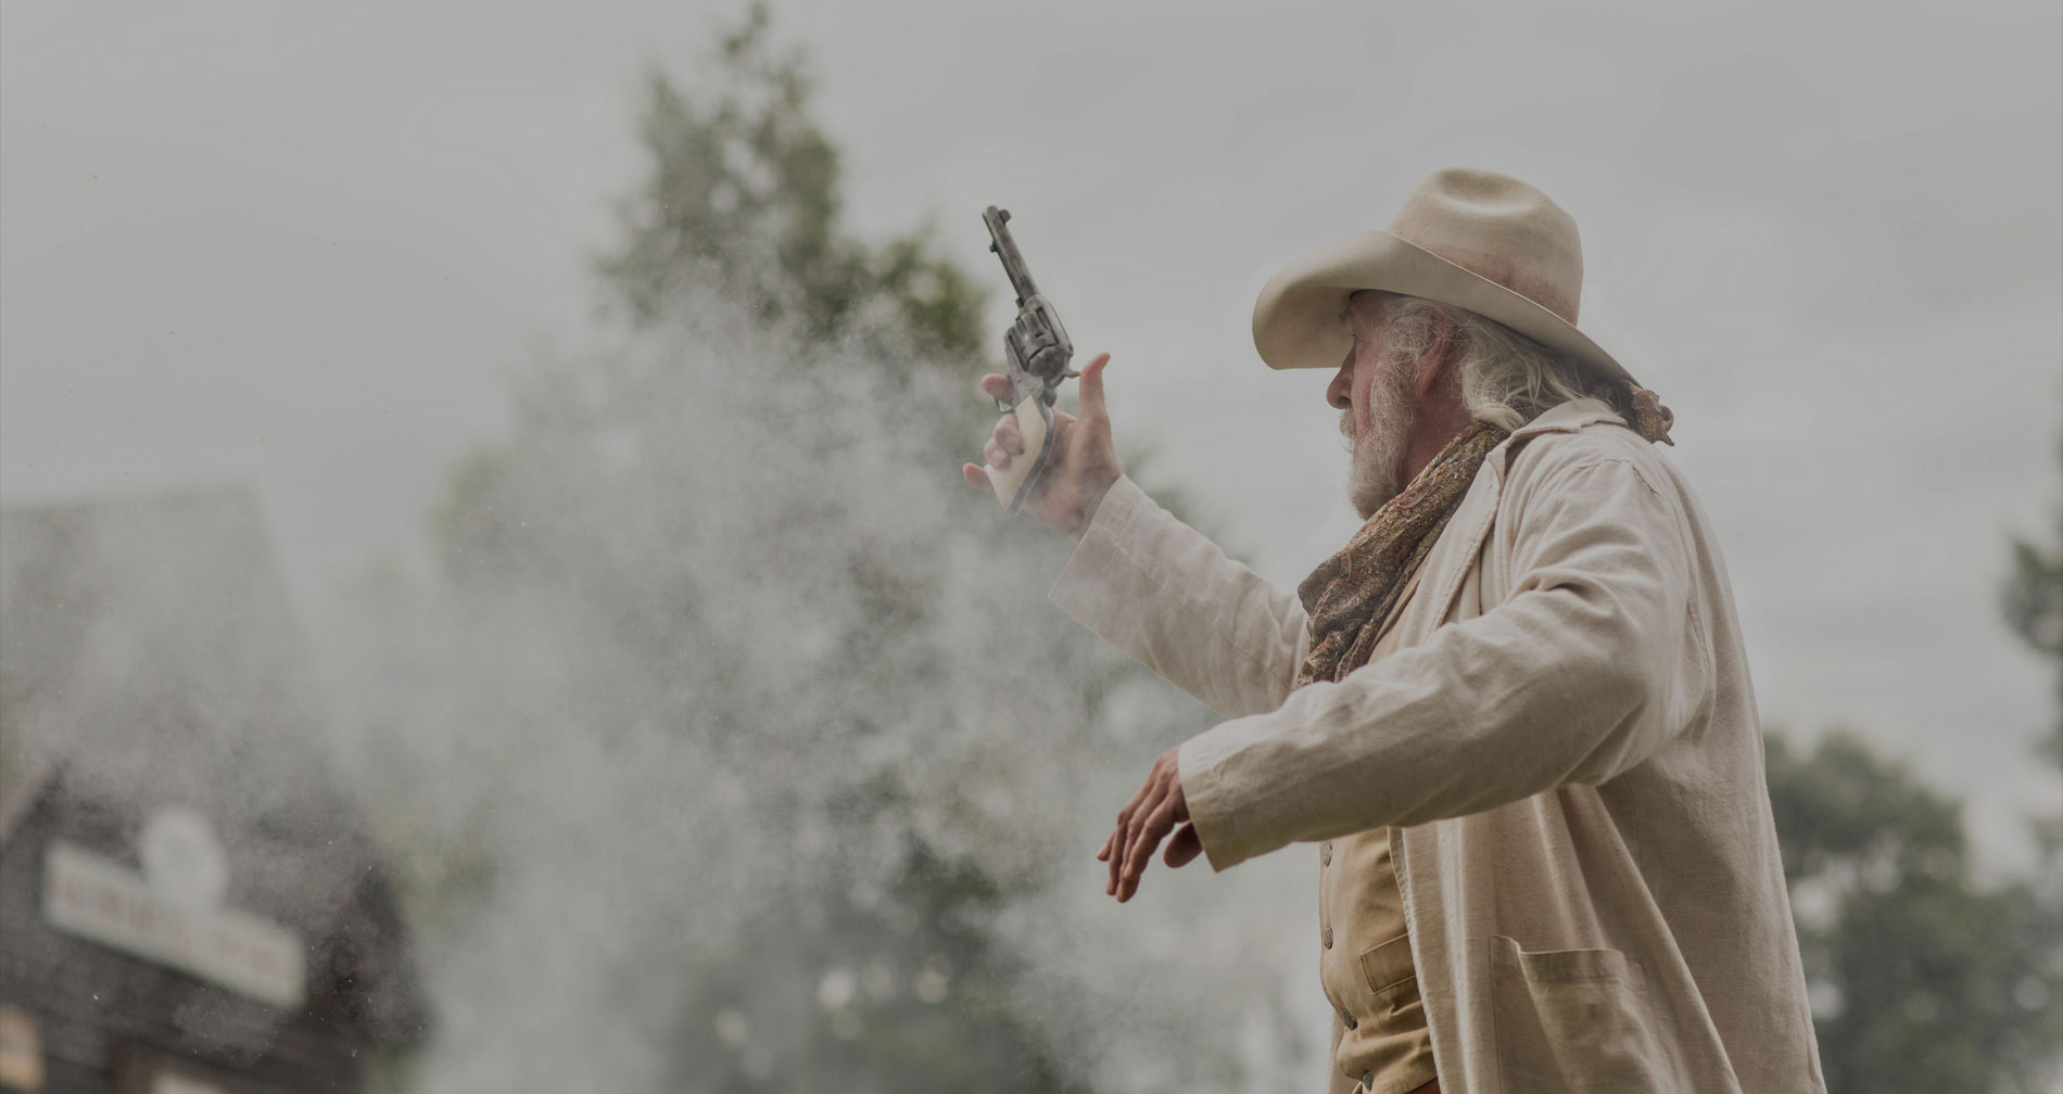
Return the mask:
<path id="1" fill-rule="evenodd" d="M 1341 1094 L 1824 1090 L 1716 540 L 1580 286 L 1562 208 L 1454 169 L 1263 288 L 1260 358 L 1337 369 L 1366 519 L 1298 595 L 1124 478 L 1108 354 L 1027 505 L 1081 540 L 1054 600 L 1232 719 L 1118 814 L 1110 892 L 1164 839 L 1316 843 Z"/>

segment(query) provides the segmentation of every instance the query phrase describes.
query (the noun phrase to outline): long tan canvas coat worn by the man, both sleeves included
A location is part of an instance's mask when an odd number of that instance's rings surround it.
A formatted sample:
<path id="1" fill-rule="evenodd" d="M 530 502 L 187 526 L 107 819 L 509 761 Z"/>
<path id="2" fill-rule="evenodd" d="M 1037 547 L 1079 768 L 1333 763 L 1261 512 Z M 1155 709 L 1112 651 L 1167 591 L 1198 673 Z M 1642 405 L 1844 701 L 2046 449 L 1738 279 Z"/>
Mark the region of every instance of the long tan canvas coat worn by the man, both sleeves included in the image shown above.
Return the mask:
<path id="1" fill-rule="evenodd" d="M 1718 548 L 1605 404 L 1492 451 L 1339 684 L 1291 692 L 1296 595 L 1128 480 L 1052 595 L 1232 717 L 1180 746 L 1215 869 L 1399 828 L 1448 1094 L 1826 1088 Z"/>

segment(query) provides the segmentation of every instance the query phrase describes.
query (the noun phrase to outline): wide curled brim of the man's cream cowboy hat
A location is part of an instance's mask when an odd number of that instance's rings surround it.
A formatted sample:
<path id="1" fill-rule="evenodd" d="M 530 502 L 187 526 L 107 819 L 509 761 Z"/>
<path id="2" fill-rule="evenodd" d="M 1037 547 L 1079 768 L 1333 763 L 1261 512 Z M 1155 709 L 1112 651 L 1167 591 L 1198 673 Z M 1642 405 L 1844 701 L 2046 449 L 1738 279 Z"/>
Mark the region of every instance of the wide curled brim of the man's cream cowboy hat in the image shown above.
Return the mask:
<path id="1" fill-rule="evenodd" d="M 1364 288 L 1473 311 L 1611 377 L 1634 379 L 1568 319 L 1386 231 L 1349 235 L 1269 278 L 1254 301 L 1260 361 L 1271 369 L 1339 369 L 1353 344 L 1339 315 Z"/>

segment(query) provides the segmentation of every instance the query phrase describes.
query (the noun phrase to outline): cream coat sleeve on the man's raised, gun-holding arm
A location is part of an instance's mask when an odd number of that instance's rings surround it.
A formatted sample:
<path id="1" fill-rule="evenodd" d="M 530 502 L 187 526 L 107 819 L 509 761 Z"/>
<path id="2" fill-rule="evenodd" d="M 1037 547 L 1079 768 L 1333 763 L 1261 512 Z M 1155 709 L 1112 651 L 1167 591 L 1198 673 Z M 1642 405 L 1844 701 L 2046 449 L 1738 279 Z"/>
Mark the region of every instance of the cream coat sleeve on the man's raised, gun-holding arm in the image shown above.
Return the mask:
<path id="1" fill-rule="evenodd" d="M 1275 711 L 1304 661 L 1304 606 L 1118 478 L 1052 602 L 1223 717 Z"/>

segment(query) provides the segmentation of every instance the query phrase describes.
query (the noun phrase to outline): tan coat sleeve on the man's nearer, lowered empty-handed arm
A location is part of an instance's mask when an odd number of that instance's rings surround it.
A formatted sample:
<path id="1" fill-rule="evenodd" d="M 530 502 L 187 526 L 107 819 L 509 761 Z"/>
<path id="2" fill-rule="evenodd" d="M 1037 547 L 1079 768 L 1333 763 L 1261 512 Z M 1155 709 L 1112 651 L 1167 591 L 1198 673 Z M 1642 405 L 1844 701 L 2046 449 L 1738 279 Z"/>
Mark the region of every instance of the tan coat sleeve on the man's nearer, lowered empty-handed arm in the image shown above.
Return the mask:
<path id="1" fill-rule="evenodd" d="M 1626 457 L 1547 472 L 1522 497 L 1502 604 L 1182 744 L 1215 869 L 1603 783 L 1694 717 L 1710 670 L 1675 497 Z"/>

